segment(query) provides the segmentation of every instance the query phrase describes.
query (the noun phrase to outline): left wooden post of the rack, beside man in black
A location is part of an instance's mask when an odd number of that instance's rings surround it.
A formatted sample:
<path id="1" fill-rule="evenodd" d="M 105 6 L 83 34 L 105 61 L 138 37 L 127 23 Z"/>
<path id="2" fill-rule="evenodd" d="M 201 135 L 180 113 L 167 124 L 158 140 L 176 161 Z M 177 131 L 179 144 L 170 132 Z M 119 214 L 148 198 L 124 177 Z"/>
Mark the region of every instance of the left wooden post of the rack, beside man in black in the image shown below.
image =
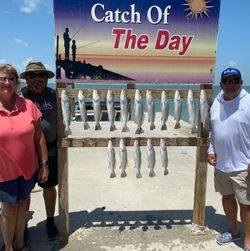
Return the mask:
<path id="1" fill-rule="evenodd" d="M 56 94 L 56 99 L 57 99 L 58 142 L 61 142 L 61 139 L 64 137 L 64 125 L 62 121 L 61 101 L 58 92 Z M 59 145 L 59 147 L 57 148 L 57 153 L 58 153 L 59 235 L 60 238 L 68 238 L 69 234 L 68 148 L 64 148 Z"/>

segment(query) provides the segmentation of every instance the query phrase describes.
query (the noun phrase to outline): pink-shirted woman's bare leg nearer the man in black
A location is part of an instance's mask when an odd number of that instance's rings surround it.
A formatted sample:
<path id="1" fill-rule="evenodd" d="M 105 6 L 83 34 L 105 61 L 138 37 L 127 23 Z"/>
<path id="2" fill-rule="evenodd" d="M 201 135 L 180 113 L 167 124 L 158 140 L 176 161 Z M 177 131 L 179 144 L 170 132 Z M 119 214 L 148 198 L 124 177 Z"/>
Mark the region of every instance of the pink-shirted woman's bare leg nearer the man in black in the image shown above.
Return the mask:
<path id="1" fill-rule="evenodd" d="M 24 243 L 24 230 L 27 217 L 27 204 L 29 198 L 18 201 L 17 217 L 16 217 L 16 229 L 15 229 L 15 247 L 20 249 L 25 246 Z"/>

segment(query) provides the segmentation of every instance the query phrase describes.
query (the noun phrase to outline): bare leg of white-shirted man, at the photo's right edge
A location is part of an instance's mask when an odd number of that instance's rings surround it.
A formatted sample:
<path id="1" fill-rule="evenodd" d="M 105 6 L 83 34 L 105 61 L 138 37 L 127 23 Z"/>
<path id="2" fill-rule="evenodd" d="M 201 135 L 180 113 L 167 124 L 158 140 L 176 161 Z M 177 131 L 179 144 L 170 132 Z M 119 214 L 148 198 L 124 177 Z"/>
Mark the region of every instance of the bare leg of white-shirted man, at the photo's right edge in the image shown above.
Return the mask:
<path id="1" fill-rule="evenodd" d="M 244 228 L 244 247 L 250 249 L 250 205 L 240 204 L 241 223 Z"/>

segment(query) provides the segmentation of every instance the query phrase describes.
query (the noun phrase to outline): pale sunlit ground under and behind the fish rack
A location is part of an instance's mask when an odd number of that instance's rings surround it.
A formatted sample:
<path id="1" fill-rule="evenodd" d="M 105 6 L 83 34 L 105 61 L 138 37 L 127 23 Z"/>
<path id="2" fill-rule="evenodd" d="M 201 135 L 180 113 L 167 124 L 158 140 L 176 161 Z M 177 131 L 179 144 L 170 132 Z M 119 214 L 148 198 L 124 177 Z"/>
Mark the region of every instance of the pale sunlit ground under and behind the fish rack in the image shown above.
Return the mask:
<path id="1" fill-rule="evenodd" d="M 158 117 L 159 118 L 159 117 Z M 149 131 L 145 122 L 145 137 L 160 135 L 194 136 L 191 126 L 182 122 L 182 128 L 168 131 Z M 107 122 L 103 130 L 83 132 L 82 123 L 71 125 L 73 137 L 89 134 L 109 137 Z M 113 136 L 121 135 L 120 125 Z M 129 122 L 130 133 L 134 125 Z M 117 134 L 117 135 L 116 135 Z M 122 134 L 124 135 L 124 134 Z M 126 135 L 126 137 L 127 137 Z M 125 135 L 124 135 L 125 136 Z M 115 149 L 119 163 L 118 148 Z M 206 194 L 206 223 L 203 231 L 192 228 L 192 210 L 195 182 L 196 147 L 168 147 L 169 174 L 164 176 L 160 164 L 160 149 L 156 151 L 156 176 L 148 176 L 146 148 L 142 151 L 142 178 L 136 179 L 133 168 L 133 148 L 127 147 L 129 165 L 127 177 L 110 179 L 107 149 L 69 148 L 69 240 L 49 242 L 45 232 L 45 209 L 42 190 L 35 187 L 31 195 L 29 220 L 29 247 L 33 251 L 178 251 L 178 250 L 242 250 L 242 240 L 227 246 L 218 246 L 215 238 L 227 230 L 220 196 L 213 188 L 213 167 L 208 166 Z M 58 211 L 56 221 L 58 224 Z M 193 230 L 193 231 L 192 231 Z"/>

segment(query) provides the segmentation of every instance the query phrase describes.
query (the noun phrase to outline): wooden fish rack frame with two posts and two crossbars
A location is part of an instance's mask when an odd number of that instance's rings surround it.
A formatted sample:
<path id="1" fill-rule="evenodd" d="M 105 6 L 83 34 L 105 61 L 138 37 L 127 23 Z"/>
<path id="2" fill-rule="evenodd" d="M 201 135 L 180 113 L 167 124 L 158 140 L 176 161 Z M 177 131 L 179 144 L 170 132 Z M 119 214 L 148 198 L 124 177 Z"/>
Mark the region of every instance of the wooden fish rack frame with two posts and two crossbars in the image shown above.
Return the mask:
<path id="1" fill-rule="evenodd" d="M 130 86 L 130 87 L 129 87 Z M 64 136 L 64 125 L 61 112 L 61 92 L 65 89 L 69 98 L 77 98 L 79 89 L 73 88 L 72 83 L 57 83 L 57 120 L 58 120 L 58 205 L 59 205 L 59 233 L 61 237 L 67 238 L 69 234 L 69 196 L 68 196 L 68 148 L 69 147 L 107 147 L 108 141 L 112 140 L 113 146 L 119 146 L 121 138 L 125 140 L 126 146 L 132 146 L 135 140 L 139 141 L 140 146 L 147 145 L 147 138 L 142 135 L 134 137 L 82 137 L 68 138 Z M 134 99 L 135 89 L 128 84 L 126 94 L 128 99 Z M 129 89 L 131 88 L 131 89 Z M 194 98 L 200 97 L 200 91 L 204 89 L 208 104 L 212 98 L 212 85 L 201 84 L 199 90 L 193 90 Z M 86 98 L 92 97 L 93 89 L 81 89 Z M 174 98 L 175 90 L 170 89 L 152 89 L 154 98 L 161 98 L 162 91 L 165 90 L 169 99 Z M 113 96 L 120 97 L 121 90 L 113 89 Z M 145 99 L 146 90 L 140 90 L 141 96 Z M 188 90 L 179 90 L 182 99 L 187 98 Z M 106 89 L 98 89 L 98 94 L 101 98 L 106 97 Z M 153 131 L 152 131 L 153 132 Z M 203 127 L 203 124 L 198 122 L 197 137 L 154 137 L 152 143 L 155 146 L 160 145 L 160 139 L 164 138 L 166 146 L 196 146 L 196 171 L 195 171 L 195 187 L 194 187 L 194 203 L 192 222 L 197 226 L 205 224 L 205 199 L 206 199 L 206 184 L 207 184 L 207 148 L 209 145 L 208 128 Z"/>

